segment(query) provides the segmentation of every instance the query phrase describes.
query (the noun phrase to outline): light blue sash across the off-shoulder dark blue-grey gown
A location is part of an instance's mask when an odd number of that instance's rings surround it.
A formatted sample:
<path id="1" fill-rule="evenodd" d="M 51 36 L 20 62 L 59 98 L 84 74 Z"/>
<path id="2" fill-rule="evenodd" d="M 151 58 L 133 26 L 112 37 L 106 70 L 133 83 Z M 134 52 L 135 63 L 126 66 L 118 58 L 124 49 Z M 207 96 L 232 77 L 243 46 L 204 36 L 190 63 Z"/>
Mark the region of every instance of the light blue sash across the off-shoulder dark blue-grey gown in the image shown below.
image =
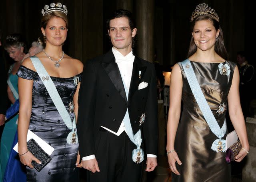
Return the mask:
<path id="1" fill-rule="evenodd" d="M 58 94 L 58 91 L 52 82 L 52 79 L 48 72 L 45 70 L 44 66 L 42 65 L 41 61 L 38 59 L 38 57 L 33 56 L 30 57 L 34 67 L 36 68 L 37 74 L 39 75 L 40 79 L 44 83 L 44 86 L 46 87 L 46 90 L 48 91 L 50 97 L 52 98 L 52 101 L 54 105 L 56 106 L 60 116 L 62 117 L 64 123 L 68 127 L 68 129 L 72 129 L 72 131 L 68 134 L 67 137 L 67 143 L 68 144 L 74 144 L 78 143 L 77 138 L 77 132 L 76 132 L 76 117 L 74 117 L 73 122 L 70 119 L 70 115 L 68 114 L 68 111 L 66 110 L 66 107 L 64 106 L 60 95 Z"/>

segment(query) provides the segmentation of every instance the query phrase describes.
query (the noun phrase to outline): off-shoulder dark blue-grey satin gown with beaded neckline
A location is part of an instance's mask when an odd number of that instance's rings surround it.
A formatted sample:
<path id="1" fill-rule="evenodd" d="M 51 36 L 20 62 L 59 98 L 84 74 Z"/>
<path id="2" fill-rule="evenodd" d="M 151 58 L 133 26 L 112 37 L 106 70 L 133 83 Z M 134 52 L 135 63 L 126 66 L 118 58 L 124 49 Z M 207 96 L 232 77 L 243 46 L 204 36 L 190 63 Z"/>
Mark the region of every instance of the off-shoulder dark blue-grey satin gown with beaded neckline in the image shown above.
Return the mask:
<path id="1" fill-rule="evenodd" d="M 38 74 L 29 68 L 20 66 L 17 75 L 33 80 L 32 113 L 29 129 L 51 145 L 55 150 L 52 160 L 40 172 L 26 168 L 28 182 L 78 182 L 79 168 L 76 168 L 78 143 L 68 145 L 66 138 L 71 131 L 58 113 Z M 76 75 L 81 79 L 81 74 Z M 73 96 L 77 88 L 77 80 L 71 78 L 52 77 L 60 98 L 62 99 L 71 120 L 74 119 L 72 108 Z"/>

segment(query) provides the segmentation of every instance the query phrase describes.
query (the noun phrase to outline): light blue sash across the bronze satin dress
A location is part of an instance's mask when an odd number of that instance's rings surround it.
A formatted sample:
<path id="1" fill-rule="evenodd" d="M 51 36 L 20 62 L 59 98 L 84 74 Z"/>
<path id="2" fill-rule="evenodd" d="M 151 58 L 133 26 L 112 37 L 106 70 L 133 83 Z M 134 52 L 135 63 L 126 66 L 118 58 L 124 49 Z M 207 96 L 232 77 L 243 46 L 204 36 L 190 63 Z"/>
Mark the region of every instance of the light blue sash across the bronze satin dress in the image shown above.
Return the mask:
<path id="1" fill-rule="evenodd" d="M 212 114 L 212 111 L 210 109 L 210 106 L 208 105 L 204 94 L 200 88 L 200 85 L 198 84 L 195 72 L 192 68 L 192 65 L 188 59 L 185 61 L 182 61 L 182 67 L 184 69 L 184 72 L 186 74 L 186 78 L 188 80 L 189 86 L 192 90 L 192 93 L 194 94 L 194 97 L 196 99 L 196 102 L 204 115 L 204 119 L 206 120 L 207 124 L 209 125 L 212 133 L 216 135 L 219 139 L 216 139 L 212 143 L 211 149 L 216 151 L 216 152 L 225 152 L 226 151 L 226 141 L 221 139 L 224 137 L 226 130 L 227 130 L 227 125 L 226 125 L 226 118 L 224 120 L 223 126 L 220 128 L 218 125 L 218 122 L 216 121 L 214 115 Z"/>

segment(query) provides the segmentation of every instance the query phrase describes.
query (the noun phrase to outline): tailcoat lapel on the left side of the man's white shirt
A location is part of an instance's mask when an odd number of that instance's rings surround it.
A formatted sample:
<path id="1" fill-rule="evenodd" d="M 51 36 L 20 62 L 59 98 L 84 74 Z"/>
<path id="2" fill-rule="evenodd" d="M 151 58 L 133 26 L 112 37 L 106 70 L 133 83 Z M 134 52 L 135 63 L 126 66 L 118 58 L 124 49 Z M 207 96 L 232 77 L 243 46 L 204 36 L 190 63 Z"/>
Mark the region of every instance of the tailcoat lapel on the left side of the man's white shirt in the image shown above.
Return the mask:
<path id="1" fill-rule="evenodd" d="M 114 57 L 114 54 L 112 53 L 112 50 L 106 53 L 104 60 L 101 62 L 101 65 L 106 71 L 106 73 L 108 74 L 114 86 L 116 87 L 116 90 L 120 93 L 122 98 L 124 98 L 125 102 L 127 102 L 122 77 L 121 77 L 119 68 L 115 62 L 115 57 Z"/>

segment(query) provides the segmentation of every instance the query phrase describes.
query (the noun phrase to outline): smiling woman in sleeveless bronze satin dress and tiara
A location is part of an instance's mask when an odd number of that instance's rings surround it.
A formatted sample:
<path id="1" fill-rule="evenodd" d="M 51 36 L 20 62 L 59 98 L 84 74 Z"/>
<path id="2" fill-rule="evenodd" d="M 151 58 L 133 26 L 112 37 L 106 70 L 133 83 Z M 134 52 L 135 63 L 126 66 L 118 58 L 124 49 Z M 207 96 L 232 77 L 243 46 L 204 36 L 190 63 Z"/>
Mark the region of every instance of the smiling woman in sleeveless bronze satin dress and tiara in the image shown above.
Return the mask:
<path id="1" fill-rule="evenodd" d="M 217 121 L 216 127 L 224 125 L 225 128 L 228 103 L 230 119 L 242 143 L 242 149 L 235 157 L 235 161 L 240 162 L 250 147 L 240 106 L 239 72 L 235 63 L 226 61 L 228 56 L 218 21 L 218 15 L 207 4 L 196 7 L 191 17 L 192 38 L 186 61 L 191 63 L 199 89 Z M 174 65 L 170 78 L 166 150 L 172 181 L 228 182 L 231 174 L 230 164 L 225 161 L 225 150 L 211 148 L 219 137 L 210 129 L 188 83 L 184 69 L 191 66 L 183 67 L 182 64 Z M 224 67 L 228 70 L 224 71 Z M 222 141 L 226 135 L 227 132 L 223 132 Z"/>

